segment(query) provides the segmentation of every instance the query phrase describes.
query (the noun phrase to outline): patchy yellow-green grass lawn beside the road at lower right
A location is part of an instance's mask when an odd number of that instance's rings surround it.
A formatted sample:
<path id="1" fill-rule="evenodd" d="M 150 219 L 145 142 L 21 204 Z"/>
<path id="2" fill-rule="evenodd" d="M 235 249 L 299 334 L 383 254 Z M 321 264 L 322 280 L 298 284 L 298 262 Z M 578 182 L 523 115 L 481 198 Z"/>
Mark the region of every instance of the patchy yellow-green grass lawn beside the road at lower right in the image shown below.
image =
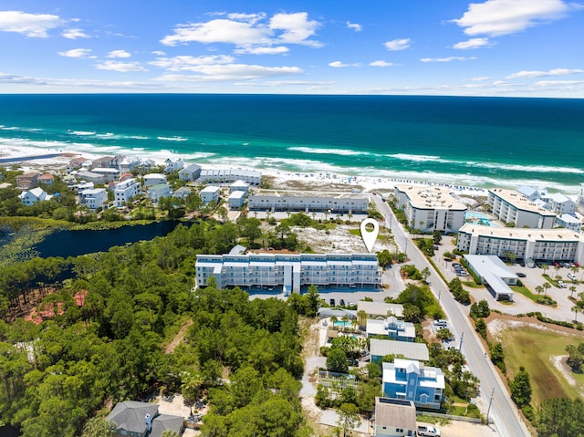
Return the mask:
<path id="1" fill-rule="evenodd" d="M 551 360 L 551 357 L 566 355 L 566 346 L 584 342 L 584 337 L 566 336 L 537 328 L 506 329 L 502 336 L 507 376 L 512 380 L 520 366 L 527 369 L 534 407 L 547 398 L 575 399 L 584 390 L 584 374 L 570 372 L 577 382 L 576 386 L 570 386 Z"/>

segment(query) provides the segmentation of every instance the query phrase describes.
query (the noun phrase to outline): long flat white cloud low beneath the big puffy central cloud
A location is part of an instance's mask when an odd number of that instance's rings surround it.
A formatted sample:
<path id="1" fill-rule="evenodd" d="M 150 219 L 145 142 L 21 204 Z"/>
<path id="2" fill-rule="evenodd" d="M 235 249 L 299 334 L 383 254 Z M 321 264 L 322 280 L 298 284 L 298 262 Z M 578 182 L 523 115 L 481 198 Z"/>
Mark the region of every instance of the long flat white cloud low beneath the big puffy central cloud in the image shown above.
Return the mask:
<path id="1" fill-rule="evenodd" d="M 166 82 L 202 82 L 224 80 L 255 80 L 274 76 L 297 75 L 298 67 L 263 67 L 246 64 L 202 65 L 192 68 L 198 75 L 162 75 L 156 80 Z"/>

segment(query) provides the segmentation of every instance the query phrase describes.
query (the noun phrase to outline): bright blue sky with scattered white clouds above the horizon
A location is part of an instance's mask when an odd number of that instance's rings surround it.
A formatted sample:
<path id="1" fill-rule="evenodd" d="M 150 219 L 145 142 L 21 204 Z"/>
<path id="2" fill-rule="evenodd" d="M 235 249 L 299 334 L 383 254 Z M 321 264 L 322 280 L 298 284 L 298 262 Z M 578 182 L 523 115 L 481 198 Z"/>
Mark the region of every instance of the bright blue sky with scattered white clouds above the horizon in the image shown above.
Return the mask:
<path id="1" fill-rule="evenodd" d="M 2 0 L 0 93 L 584 98 L 584 1 Z"/>

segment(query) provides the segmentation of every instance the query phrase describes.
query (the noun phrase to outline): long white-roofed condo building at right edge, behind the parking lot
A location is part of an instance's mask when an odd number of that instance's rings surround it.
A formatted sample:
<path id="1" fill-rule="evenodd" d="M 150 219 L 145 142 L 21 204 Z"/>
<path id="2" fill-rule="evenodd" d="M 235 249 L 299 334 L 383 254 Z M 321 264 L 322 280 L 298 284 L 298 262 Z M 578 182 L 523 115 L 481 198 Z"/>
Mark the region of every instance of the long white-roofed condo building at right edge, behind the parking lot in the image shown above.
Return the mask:
<path id="1" fill-rule="evenodd" d="M 584 235 L 569 229 L 495 228 L 464 224 L 456 248 L 469 255 L 584 263 Z"/>

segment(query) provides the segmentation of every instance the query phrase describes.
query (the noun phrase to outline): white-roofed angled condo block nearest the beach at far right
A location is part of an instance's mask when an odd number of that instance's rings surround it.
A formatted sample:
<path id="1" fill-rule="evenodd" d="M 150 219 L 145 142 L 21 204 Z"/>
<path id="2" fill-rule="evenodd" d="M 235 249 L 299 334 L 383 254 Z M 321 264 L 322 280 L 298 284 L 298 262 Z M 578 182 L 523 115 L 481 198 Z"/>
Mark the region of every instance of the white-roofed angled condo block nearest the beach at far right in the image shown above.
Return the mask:
<path id="1" fill-rule="evenodd" d="M 488 203 L 497 219 L 517 228 L 551 229 L 556 221 L 555 213 L 538 203 L 531 202 L 516 190 L 505 188 L 489 190 Z"/>

